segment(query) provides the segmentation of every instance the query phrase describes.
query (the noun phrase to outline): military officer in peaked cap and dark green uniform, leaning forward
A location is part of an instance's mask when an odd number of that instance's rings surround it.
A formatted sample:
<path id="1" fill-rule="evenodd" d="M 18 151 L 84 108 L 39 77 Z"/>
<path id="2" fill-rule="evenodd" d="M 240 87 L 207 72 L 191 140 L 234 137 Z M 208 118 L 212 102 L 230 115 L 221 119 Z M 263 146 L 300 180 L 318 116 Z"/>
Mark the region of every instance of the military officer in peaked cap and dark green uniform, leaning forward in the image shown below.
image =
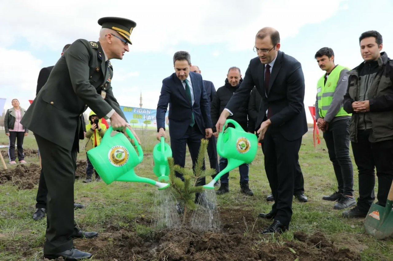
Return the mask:
<path id="1" fill-rule="evenodd" d="M 48 187 L 44 257 L 49 259 L 89 258 L 92 254 L 74 248 L 73 238 L 97 236 L 96 232 L 82 232 L 74 221 L 74 173 L 79 138 L 83 136 L 80 115 L 90 107 L 99 118 L 109 118 L 114 130 L 131 129 L 112 92 L 113 68 L 109 60 L 121 60 L 129 51 L 136 23 L 104 17 L 98 24 L 102 26 L 99 42 L 73 42 L 21 122 L 34 132 L 42 156 Z"/>

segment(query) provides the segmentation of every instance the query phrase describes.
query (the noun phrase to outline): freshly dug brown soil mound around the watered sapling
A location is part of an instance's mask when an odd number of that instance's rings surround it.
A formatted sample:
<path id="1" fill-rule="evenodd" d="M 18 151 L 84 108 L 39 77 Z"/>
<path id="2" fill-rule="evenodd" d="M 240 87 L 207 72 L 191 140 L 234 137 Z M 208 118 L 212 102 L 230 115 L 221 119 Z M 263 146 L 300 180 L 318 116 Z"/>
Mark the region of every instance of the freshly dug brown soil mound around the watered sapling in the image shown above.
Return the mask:
<path id="1" fill-rule="evenodd" d="M 224 228 L 219 233 L 188 228 L 140 233 L 135 227 L 125 229 L 108 225 L 105 232 L 93 240 L 74 241 L 75 247 L 90 251 L 94 259 L 118 261 L 360 260 L 357 252 L 339 249 L 321 233 L 307 236 L 295 232 L 294 241 L 266 243 L 263 239 L 271 236 L 260 234 L 265 225 L 259 220 L 252 220 L 249 212 L 232 209 L 220 212 Z M 140 217 L 131 223 L 149 227 L 153 221 Z"/>

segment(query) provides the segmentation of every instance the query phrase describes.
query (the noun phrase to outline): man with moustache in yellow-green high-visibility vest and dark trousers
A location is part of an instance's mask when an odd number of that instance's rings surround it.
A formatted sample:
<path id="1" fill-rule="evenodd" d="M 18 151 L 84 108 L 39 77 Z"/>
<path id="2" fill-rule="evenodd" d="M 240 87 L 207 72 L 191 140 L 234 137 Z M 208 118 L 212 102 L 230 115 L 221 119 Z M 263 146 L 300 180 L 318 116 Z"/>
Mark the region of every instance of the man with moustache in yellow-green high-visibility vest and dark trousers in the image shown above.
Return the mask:
<path id="1" fill-rule="evenodd" d="M 333 208 L 344 209 L 356 205 L 353 196 L 353 166 L 349 156 L 349 123 L 351 114 L 343 109 L 348 86 L 348 68 L 334 64 L 334 53 L 329 47 L 321 48 L 315 59 L 326 73 L 317 84 L 315 118 L 329 152 L 336 174 L 338 191 L 324 200 L 338 201 Z"/>

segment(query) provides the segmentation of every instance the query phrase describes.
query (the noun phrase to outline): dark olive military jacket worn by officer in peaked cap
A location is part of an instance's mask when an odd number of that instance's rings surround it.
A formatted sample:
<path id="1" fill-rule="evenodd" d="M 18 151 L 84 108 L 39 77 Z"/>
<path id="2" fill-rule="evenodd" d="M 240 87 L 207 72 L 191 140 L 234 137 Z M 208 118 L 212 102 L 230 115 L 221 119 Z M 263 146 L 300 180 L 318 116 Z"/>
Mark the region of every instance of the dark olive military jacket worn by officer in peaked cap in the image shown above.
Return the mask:
<path id="1" fill-rule="evenodd" d="M 79 116 L 87 107 L 99 118 L 114 109 L 127 121 L 113 96 L 112 76 L 112 65 L 105 62 L 99 42 L 76 40 L 53 67 L 21 123 L 34 134 L 71 150 L 77 135 L 83 138 Z"/>

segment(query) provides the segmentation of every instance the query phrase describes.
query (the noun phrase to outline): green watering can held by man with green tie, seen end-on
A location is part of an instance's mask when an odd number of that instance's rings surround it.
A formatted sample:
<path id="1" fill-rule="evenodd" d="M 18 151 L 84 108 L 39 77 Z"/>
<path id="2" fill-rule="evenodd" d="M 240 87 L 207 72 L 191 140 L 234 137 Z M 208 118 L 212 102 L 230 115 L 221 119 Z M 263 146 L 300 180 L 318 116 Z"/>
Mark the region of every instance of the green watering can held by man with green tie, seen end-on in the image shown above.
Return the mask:
<path id="1" fill-rule="evenodd" d="M 161 137 L 161 142 L 157 143 L 153 149 L 153 172 L 158 177 L 158 181 L 169 181 L 168 157 L 172 157 L 171 147 L 165 143 L 164 137 Z"/>

